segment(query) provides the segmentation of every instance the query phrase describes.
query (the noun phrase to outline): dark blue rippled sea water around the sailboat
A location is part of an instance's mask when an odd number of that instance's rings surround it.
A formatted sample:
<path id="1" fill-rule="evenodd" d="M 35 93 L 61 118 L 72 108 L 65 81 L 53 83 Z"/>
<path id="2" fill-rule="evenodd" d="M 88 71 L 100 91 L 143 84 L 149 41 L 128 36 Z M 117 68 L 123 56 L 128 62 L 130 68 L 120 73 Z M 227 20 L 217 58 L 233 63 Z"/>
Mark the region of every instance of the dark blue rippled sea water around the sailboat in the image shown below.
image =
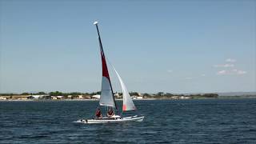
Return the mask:
<path id="1" fill-rule="evenodd" d="M 0 102 L 0 143 L 256 143 L 256 98 L 134 103 L 143 122 L 88 125 L 98 102 Z"/>

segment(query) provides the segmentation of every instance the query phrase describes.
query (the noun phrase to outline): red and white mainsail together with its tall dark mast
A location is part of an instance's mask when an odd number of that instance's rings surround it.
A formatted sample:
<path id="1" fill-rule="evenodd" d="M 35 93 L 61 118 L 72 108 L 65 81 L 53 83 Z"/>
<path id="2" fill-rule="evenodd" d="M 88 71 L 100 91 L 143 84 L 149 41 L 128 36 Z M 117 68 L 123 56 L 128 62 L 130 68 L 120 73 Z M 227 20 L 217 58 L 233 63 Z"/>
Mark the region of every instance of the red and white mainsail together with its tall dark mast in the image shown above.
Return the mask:
<path id="1" fill-rule="evenodd" d="M 102 93 L 101 93 L 99 104 L 101 106 L 111 106 L 111 107 L 114 107 L 115 109 L 118 109 L 116 102 L 114 100 L 113 88 L 110 82 L 110 74 L 107 69 L 106 57 L 102 47 L 102 39 L 98 30 L 98 22 L 94 22 L 94 25 L 97 28 L 98 42 L 99 42 L 99 47 L 100 47 L 101 56 L 102 56 Z"/>

